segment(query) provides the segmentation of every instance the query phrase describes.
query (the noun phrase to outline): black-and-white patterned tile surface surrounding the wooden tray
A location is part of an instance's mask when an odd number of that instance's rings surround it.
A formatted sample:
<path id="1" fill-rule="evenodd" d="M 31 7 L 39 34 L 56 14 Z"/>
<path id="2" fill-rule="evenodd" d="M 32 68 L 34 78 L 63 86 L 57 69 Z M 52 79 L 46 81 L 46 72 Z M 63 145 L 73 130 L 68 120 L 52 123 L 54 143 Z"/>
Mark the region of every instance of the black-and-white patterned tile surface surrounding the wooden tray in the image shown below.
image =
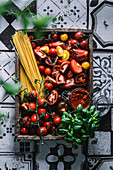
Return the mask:
<path id="1" fill-rule="evenodd" d="M 1 2 L 1 1 L 0 1 Z M 6 2 L 6 0 L 2 0 Z M 29 4 L 37 17 L 51 15 L 57 20 L 49 28 L 92 29 L 94 34 L 93 82 L 102 90 L 95 98 L 105 95 L 111 109 L 101 117 L 100 128 L 88 146 L 72 149 L 62 141 L 46 141 L 42 146 L 34 141 L 15 141 L 14 97 L 4 96 L 0 87 L 0 113 L 9 112 L 0 125 L 0 170 L 110 170 L 113 167 L 113 1 L 105 0 L 17 0 L 13 8 L 23 11 Z M 59 16 L 63 19 L 59 20 Z M 108 26 L 105 26 L 106 21 Z M 15 53 L 11 36 L 21 29 L 20 20 L 13 15 L 0 17 L 0 76 L 6 82 L 14 82 Z M 93 142 L 93 141 L 96 142 Z M 65 151 L 65 152 L 64 152 Z"/>

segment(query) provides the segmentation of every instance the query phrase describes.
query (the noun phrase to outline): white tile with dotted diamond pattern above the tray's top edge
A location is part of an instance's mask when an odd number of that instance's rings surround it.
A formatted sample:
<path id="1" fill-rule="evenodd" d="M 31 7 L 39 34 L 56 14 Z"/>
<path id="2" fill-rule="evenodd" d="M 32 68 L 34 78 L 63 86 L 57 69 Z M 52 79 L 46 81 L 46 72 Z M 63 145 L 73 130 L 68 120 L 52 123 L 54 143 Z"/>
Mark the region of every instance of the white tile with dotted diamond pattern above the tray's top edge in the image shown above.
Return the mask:
<path id="1" fill-rule="evenodd" d="M 56 21 L 51 21 L 48 25 L 49 28 L 86 28 L 87 16 L 85 1 L 81 3 L 81 1 L 76 0 L 76 4 L 73 0 L 70 1 L 70 4 L 64 0 L 52 0 L 52 2 L 53 4 L 50 0 L 46 0 L 40 4 L 40 2 L 37 1 L 38 16 L 51 15 L 52 17 L 56 17 Z M 56 7 L 58 8 L 57 10 Z"/>

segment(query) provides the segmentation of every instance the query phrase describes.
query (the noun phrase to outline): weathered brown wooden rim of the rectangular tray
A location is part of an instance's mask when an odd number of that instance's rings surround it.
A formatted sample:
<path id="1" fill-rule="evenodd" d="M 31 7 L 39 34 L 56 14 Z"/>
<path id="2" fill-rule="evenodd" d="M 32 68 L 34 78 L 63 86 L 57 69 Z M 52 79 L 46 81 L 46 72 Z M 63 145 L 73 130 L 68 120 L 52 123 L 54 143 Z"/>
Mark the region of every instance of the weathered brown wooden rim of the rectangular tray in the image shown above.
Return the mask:
<path id="1" fill-rule="evenodd" d="M 68 34 L 74 34 L 75 32 L 81 31 L 86 35 L 89 35 L 89 56 L 88 56 L 88 62 L 90 63 L 90 69 L 88 70 L 88 85 L 87 90 L 90 92 L 93 89 L 93 34 L 91 30 L 85 30 L 85 29 L 45 29 L 43 32 L 49 34 L 52 31 L 56 31 L 58 33 L 68 33 Z M 33 30 L 28 31 L 28 35 L 32 34 Z M 16 59 L 15 63 L 15 75 L 20 80 L 20 66 L 19 66 L 19 59 Z M 40 140 L 40 137 L 37 135 L 21 135 L 20 134 L 20 127 L 17 126 L 18 119 L 19 119 L 19 110 L 20 108 L 20 101 L 19 97 L 16 96 L 15 98 L 15 136 L 19 140 Z M 46 135 L 43 136 L 43 139 L 45 140 L 57 140 L 57 139 L 63 139 L 64 135 L 59 136 L 52 136 L 52 135 Z"/>

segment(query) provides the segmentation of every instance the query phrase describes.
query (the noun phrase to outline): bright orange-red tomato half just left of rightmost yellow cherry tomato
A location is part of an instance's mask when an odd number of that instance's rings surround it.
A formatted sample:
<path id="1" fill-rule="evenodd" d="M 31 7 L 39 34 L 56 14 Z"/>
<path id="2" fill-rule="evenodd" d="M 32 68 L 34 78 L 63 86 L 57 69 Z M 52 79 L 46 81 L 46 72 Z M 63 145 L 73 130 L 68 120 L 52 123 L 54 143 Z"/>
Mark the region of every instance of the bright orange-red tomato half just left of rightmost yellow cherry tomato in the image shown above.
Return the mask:
<path id="1" fill-rule="evenodd" d="M 71 67 L 71 70 L 76 74 L 82 72 L 82 66 L 77 61 L 75 61 L 74 59 L 71 60 L 70 67 Z"/>

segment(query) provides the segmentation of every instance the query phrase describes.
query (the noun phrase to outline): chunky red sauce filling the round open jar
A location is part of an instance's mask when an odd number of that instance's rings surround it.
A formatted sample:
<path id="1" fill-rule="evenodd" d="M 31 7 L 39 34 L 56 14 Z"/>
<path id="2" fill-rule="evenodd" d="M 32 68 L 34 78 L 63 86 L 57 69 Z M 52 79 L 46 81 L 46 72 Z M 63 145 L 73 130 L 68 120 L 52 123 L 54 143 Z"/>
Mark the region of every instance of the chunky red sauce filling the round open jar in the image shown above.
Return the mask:
<path id="1" fill-rule="evenodd" d="M 70 94 L 70 103 L 73 108 L 77 108 L 79 104 L 83 106 L 83 109 L 87 108 L 90 104 L 90 96 L 86 90 L 77 89 Z"/>

